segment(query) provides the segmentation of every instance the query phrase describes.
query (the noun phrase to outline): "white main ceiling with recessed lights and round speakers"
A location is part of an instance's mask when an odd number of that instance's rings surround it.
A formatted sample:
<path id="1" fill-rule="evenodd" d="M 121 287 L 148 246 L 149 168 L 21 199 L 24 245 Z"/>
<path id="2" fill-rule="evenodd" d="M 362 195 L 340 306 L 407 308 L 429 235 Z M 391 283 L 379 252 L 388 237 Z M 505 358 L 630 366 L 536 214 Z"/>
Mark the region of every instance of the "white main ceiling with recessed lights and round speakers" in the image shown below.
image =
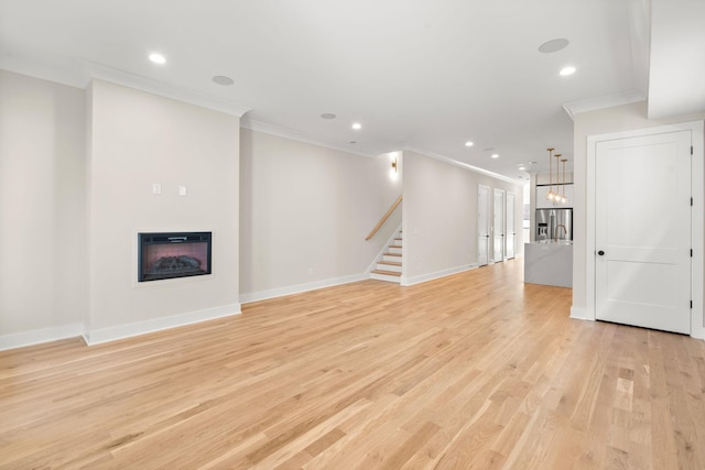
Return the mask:
<path id="1" fill-rule="evenodd" d="M 0 68 L 80 87 L 107 78 L 247 111 L 253 128 L 355 153 L 413 149 L 519 181 L 521 163 L 547 167 L 547 146 L 572 161 L 564 105 L 670 88 L 654 85 L 653 59 L 649 68 L 649 9 L 648 0 L 0 0 Z M 557 37 L 570 45 L 538 51 Z M 669 44 L 660 50 L 668 56 Z M 148 61 L 155 51 L 165 65 Z M 577 72 L 558 76 L 565 65 Z M 669 96 L 660 113 L 677 112 L 679 100 L 693 107 L 692 95 Z"/>

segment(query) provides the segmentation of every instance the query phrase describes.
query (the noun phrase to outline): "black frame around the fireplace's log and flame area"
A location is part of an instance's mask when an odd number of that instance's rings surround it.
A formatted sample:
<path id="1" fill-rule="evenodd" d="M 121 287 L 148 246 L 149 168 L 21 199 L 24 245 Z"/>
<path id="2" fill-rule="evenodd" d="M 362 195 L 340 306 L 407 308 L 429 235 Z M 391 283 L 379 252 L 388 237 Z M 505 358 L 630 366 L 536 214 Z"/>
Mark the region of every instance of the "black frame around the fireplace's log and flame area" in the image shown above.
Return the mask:
<path id="1" fill-rule="evenodd" d="M 177 275 L 158 275 L 144 272 L 143 263 L 147 249 L 155 244 L 206 243 L 206 267 L 199 272 L 178 273 Z M 138 233 L 138 282 L 164 281 L 213 274 L 213 233 L 212 232 L 140 232 Z"/>

